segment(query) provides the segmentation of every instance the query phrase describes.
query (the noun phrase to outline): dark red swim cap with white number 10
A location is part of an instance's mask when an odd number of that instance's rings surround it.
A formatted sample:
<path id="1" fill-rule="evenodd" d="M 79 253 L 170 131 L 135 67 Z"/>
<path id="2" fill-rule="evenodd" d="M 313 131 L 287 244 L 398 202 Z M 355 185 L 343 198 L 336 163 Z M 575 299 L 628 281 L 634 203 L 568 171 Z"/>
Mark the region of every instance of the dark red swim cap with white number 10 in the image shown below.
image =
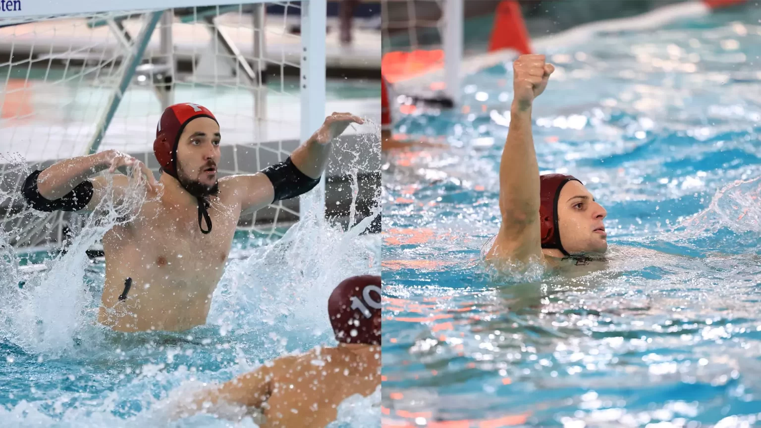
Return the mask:
<path id="1" fill-rule="evenodd" d="M 380 345 L 380 276 L 343 280 L 330 294 L 328 315 L 339 342 Z"/>

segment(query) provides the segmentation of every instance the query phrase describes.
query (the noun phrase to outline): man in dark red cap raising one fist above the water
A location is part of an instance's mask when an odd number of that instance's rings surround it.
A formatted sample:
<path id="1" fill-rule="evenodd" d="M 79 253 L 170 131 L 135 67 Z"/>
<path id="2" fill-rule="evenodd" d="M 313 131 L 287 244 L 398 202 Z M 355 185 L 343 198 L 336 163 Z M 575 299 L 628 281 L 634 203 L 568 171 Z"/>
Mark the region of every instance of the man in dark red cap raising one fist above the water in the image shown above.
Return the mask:
<path id="1" fill-rule="evenodd" d="M 531 105 L 546 88 L 555 67 L 546 64 L 543 55 L 522 55 L 513 69 L 510 129 L 499 165 L 502 222 L 486 260 L 511 265 L 556 264 L 565 257 L 604 254 L 608 246 L 605 209 L 575 177 L 539 174 L 531 136 Z"/>

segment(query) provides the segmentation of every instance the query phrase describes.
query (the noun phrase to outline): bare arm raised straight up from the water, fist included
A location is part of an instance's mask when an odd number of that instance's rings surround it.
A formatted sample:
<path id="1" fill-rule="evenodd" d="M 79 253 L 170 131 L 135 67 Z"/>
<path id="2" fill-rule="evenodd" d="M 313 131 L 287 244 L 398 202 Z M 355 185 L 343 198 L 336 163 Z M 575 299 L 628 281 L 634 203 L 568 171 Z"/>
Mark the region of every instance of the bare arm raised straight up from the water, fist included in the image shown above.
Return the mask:
<path id="1" fill-rule="evenodd" d="M 513 63 L 513 69 L 510 128 L 499 165 L 502 222 L 487 257 L 525 262 L 542 257 L 540 178 L 531 135 L 531 107 L 555 68 L 545 63 L 543 55 L 523 55 Z"/>

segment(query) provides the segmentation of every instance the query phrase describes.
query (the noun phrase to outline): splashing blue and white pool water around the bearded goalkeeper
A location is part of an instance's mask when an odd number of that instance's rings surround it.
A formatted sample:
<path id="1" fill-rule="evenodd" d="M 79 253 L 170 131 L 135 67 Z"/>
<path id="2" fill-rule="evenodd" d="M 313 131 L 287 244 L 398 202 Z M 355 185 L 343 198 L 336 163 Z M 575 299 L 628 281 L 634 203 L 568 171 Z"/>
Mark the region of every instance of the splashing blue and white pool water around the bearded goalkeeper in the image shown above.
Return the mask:
<path id="1" fill-rule="evenodd" d="M 85 228 L 54 257 L 0 246 L 0 426 L 255 426 L 209 415 L 170 423 L 161 400 L 334 346 L 333 287 L 380 272 L 380 237 L 360 235 L 370 220 L 344 231 L 313 212 L 280 239 L 237 232 L 207 324 L 182 333 L 121 334 L 96 323 L 105 267 L 84 250 L 105 228 Z M 19 267 L 40 257 L 45 271 Z M 345 403 L 336 426 L 377 426 L 379 394 Z"/>

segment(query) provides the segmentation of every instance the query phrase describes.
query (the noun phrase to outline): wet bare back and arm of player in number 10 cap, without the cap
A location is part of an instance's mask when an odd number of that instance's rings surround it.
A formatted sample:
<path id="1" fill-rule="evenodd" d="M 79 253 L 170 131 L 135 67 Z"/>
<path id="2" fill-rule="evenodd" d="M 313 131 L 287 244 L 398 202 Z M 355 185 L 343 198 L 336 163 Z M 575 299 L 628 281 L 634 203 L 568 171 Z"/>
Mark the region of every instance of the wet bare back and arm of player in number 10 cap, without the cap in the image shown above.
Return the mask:
<path id="1" fill-rule="evenodd" d="M 174 417 L 199 410 L 253 415 L 262 428 L 323 427 L 336 420 L 346 398 L 368 397 L 380 386 L 380 347 L 339 345 L 285 356 L 183 402 Z"/>

